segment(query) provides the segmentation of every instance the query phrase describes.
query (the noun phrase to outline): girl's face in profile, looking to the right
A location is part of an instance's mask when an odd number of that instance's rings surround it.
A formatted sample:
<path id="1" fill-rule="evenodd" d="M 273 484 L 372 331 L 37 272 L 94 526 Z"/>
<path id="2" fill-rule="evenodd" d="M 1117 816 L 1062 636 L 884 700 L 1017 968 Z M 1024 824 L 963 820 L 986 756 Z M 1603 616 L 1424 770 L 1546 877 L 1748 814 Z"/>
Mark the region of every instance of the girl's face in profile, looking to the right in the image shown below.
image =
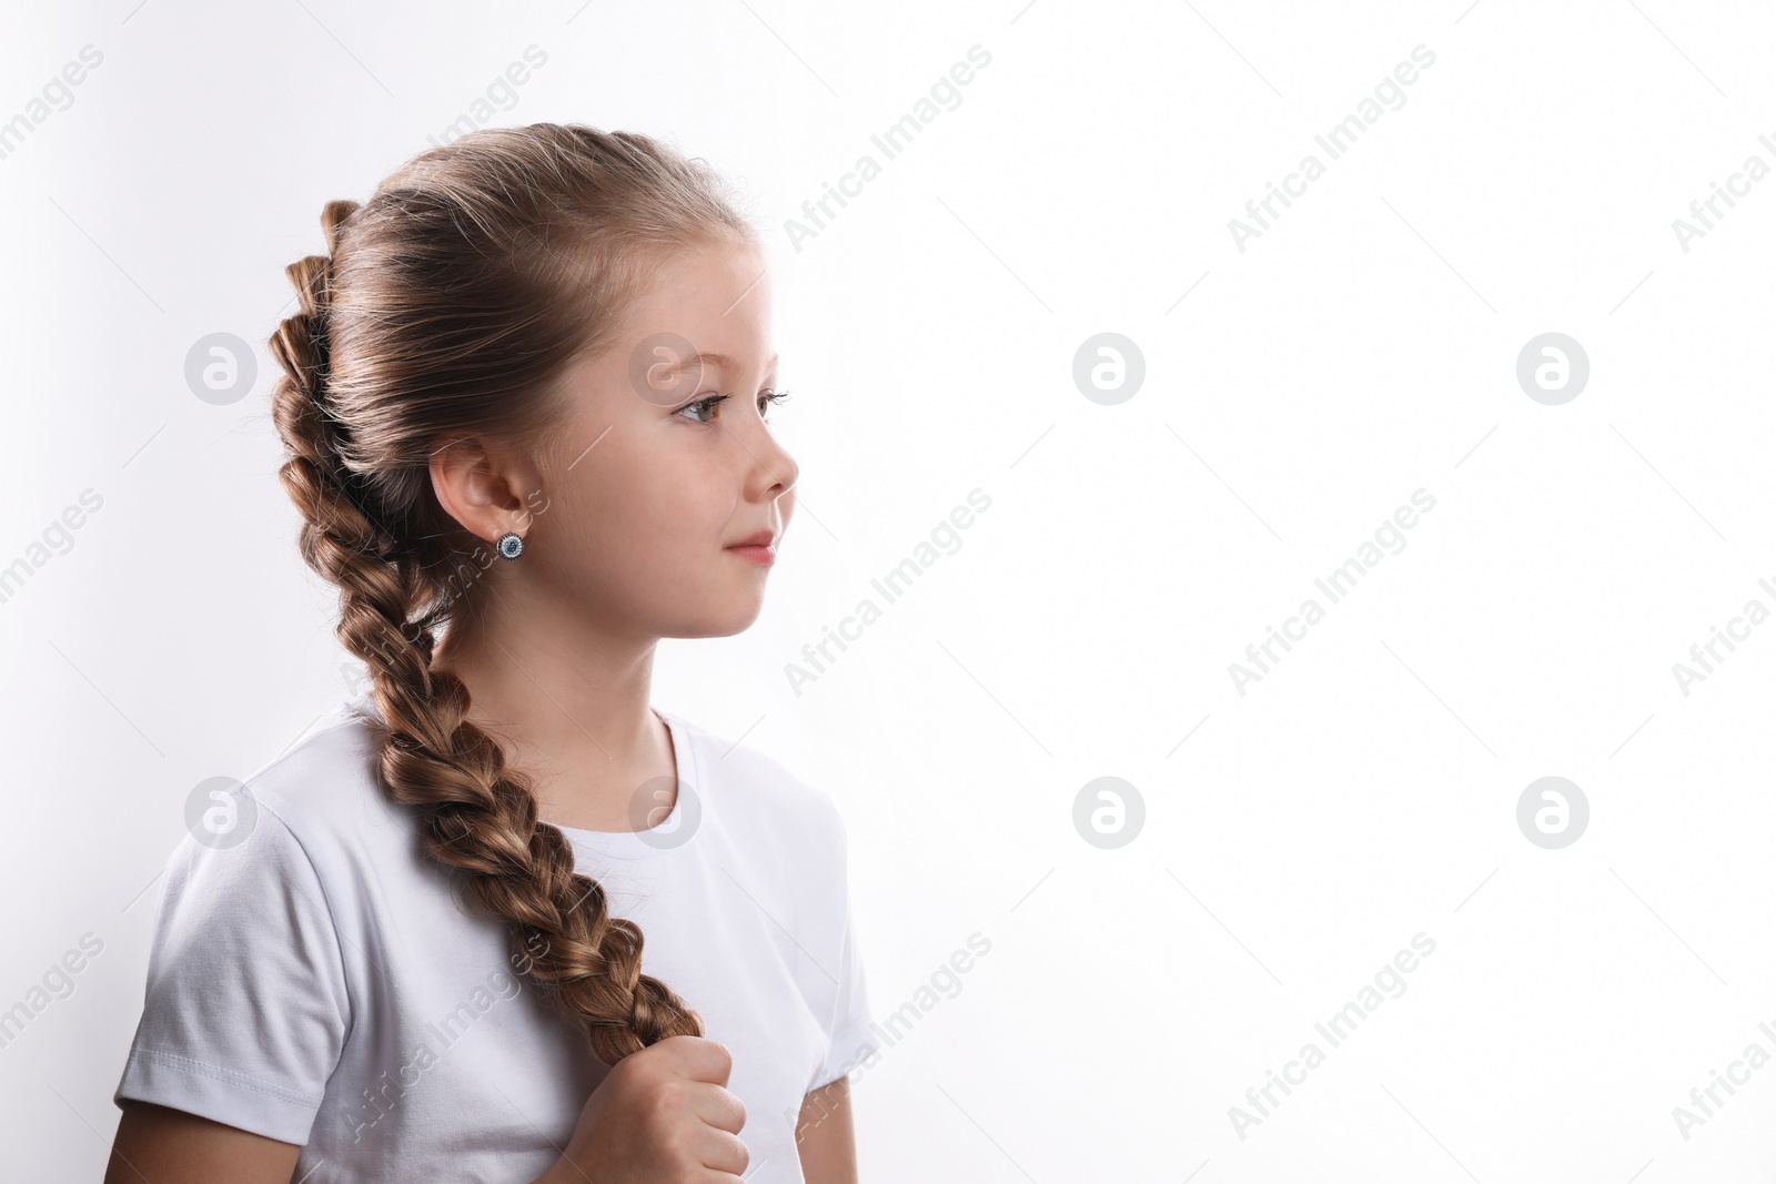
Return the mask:
<path id="1" fill-rule="evenodd" d="M 758 618 L 771 563 L 735 547 L 781 541 L 799 474 L 765 419 L 764 272 L 749 247 L 678 254 L 629 335 L 565 375 L 558 462 L 531 497 L 520 563 L 568 612 L 646 637 L 721 637 Z"/>

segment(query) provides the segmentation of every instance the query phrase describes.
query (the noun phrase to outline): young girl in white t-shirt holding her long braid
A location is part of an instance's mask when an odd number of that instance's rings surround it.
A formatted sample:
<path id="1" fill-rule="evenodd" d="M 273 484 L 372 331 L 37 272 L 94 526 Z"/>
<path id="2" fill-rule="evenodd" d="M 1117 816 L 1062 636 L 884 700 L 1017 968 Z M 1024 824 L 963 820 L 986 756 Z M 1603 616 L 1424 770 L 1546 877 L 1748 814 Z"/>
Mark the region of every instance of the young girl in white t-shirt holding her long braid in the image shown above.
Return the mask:
<path id="1" fill-rule="evenodd" d="M 281 479 L 369 691 L 174 850 L 107 1184 L 856 1180 L 844 824 L 650 706 L 794 509 L 757 233 L 559 124 L 321 225 Z"/>

